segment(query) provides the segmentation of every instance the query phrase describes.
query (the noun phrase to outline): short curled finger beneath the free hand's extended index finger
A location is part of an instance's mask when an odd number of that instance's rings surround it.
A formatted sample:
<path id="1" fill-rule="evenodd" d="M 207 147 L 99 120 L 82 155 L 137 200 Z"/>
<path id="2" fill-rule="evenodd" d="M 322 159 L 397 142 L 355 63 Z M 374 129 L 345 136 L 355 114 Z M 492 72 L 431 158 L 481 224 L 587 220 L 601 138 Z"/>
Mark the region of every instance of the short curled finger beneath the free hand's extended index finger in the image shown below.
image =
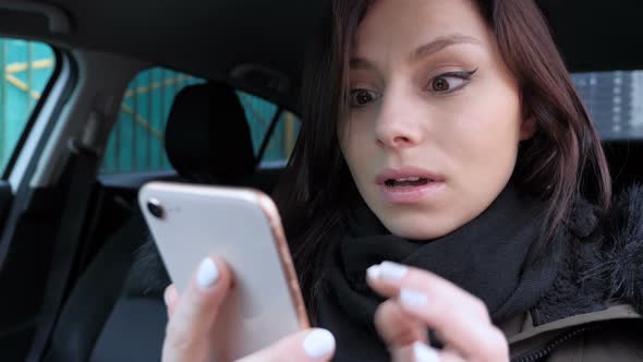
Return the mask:
<path id="1" fill-rule="evenodd" d="M 415 341 L 427 343 L 427 328 L 400 306 L 388 300 L 375 312 L 375 327 L 389 349 L 402 348 Z"/>

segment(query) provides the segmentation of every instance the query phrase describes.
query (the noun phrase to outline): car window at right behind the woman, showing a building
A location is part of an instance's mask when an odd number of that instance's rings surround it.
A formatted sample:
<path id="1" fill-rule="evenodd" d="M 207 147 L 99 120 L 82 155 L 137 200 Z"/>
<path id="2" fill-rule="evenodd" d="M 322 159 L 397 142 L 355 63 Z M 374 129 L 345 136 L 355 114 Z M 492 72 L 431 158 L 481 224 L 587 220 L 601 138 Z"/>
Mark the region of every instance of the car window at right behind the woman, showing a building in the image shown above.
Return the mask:
<path id="1" fill-rule="evenodd" d="M 643 71 L 572 74 L 602 140 L 643 137 Z"/>

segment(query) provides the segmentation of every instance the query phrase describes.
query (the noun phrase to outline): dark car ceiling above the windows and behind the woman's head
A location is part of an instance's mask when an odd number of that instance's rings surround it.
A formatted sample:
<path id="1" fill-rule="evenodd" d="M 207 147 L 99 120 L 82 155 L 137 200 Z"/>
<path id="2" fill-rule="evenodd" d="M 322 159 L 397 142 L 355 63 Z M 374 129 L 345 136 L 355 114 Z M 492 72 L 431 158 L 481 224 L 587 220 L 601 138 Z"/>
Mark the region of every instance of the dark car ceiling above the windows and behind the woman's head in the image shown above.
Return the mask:
<path id="1" fill-rule="evenodd" d="M 252 82 L 241 86 L 256 87 L 291 107 L 296 104 L 311 34 L 328 5 L 328 0 L 32 1 L 68 15 L 70 32 L 53 34 L 41 15 L 1 10 L 3 2 L 16 1 L 25 0 L 0 0 L 3 34 L 125 55 L 229 82 L 236 65 L 262 64 L 283 73 L 291 86 L 278 92 Z M 539 4 L 571 71 L 643 69 L 639 46 L 643 31 L 634 28 L 643 20 L 643 1 L 541 0 Z"/>

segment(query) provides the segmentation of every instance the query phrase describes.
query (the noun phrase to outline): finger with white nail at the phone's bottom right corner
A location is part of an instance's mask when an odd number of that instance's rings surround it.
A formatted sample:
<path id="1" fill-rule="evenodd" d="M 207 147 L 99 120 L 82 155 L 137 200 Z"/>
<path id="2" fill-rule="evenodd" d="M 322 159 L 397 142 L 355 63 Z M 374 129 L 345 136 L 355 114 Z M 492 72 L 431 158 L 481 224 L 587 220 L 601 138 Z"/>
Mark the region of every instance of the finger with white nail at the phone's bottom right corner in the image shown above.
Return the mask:
<path id="1" fill-rule="evenodd" d="M 238 362 L 322 362 L 335 353 L 335 337 L 326 329 L 311 329 L 286 337 Z"/>

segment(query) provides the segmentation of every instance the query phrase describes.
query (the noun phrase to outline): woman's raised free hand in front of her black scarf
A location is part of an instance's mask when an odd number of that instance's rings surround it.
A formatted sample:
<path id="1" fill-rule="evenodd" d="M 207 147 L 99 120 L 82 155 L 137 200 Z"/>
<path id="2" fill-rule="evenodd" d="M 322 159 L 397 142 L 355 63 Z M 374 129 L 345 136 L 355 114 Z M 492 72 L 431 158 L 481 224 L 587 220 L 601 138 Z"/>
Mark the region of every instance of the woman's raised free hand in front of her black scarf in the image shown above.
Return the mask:
<path id="1" fill-rule="evenodd" d="M 384 262 L 367 270 L 371 288 L 390 299 L 375 325 L 396 361 L 509 361 L 505 335 L 476 297 L 435 274 Z M 427 347 L 427 328 L 445 343 Z"/>

